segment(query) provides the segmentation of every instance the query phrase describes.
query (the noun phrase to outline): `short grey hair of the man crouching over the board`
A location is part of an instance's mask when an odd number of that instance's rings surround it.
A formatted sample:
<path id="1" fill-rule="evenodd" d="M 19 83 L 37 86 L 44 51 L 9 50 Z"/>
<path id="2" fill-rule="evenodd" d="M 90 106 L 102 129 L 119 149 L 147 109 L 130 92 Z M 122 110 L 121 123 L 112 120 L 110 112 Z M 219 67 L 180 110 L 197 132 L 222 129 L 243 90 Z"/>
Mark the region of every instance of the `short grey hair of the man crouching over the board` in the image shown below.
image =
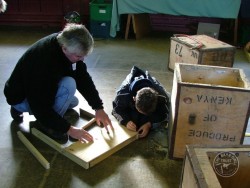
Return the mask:
<path id="1" fill-rule="evenodd" d="M 94 47 L 92 35 L 82 24 L 68 23 L 63 31 L 58 34 L 57 40 L 69 52 L 79 55 L 88 55 Z"/>

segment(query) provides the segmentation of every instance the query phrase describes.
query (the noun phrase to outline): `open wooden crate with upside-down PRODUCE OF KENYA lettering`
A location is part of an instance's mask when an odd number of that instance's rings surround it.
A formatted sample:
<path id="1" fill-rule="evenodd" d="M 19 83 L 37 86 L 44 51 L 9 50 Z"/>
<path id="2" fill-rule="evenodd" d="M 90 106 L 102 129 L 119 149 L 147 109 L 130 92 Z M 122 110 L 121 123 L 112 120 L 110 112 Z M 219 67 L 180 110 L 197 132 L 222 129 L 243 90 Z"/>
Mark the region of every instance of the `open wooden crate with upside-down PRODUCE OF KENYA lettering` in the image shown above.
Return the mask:
<path id="1" fill-rule="evenodd" d="M 184 158 L 185 145 L 242 144 L 249 114 L 250 87 L 241 69 L 176 64 L 169 157 Z"/>

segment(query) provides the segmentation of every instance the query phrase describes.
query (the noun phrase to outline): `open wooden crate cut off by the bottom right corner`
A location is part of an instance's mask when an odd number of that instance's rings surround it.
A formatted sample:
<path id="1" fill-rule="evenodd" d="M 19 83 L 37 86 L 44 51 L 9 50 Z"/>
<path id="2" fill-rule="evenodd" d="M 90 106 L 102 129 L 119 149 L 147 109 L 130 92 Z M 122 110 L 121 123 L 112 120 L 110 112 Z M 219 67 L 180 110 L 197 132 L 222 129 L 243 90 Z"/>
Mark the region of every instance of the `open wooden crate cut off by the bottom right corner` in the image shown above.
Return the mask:
<path id="1" fill-rule="evenodd" d="M 250 146 L 188 145 L 181 188 L 248 188 Z"/>

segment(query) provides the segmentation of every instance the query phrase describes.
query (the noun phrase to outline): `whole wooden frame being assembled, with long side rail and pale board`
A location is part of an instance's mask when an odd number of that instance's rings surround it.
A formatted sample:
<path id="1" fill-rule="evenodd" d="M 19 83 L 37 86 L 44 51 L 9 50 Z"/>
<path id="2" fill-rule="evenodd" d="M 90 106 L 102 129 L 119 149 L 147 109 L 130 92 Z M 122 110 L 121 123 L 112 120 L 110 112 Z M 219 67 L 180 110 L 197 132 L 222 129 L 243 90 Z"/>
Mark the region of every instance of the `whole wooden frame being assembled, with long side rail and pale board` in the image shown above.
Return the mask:
<path id="1" fill-rule="evenodd" d="M 31 132 L 37 138 L 85 169 L 89 169 L 138 139 L 137 132 L 129 131 L 126 127 L 119 125 L 117 122 L 112 122 L 114 131 L 107 133 L 105 128 L 95 126 L 93 114 L 80 109 L 80 116 L 82 115 L 91 118 L 82 128 L 87 129 L 91 127 L 89 133 L 94 137 L 93 143 L 81 143 L 77 141 L 61 145 L 36 128 L 32 128 Z"/>

